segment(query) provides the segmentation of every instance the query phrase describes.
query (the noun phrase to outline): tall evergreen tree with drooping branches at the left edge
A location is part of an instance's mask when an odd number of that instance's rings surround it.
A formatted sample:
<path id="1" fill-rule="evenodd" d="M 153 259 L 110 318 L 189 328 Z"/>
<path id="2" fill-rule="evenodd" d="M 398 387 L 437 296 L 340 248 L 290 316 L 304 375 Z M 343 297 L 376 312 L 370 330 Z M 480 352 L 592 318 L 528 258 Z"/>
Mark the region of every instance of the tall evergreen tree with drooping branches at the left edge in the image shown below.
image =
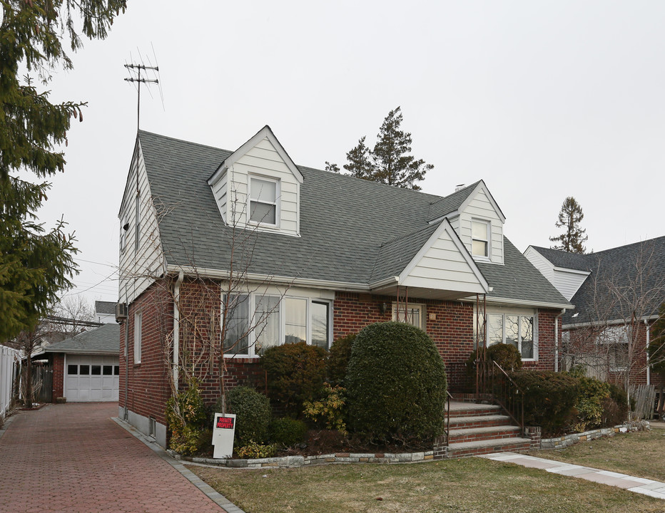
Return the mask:
<path id="1" fill-rule="evenodd" d="M 60 220 L 46 230 L 36 211 L 46 199 L 46 177 L 63 171 L 71 118 L 82 120 L 85 103 L 53 104 L 38 90 L 51 71 L 71 69 L 64 43 L 81 48 L 78 18 L 88 38 L 106 38 L 126 0 L 2 0 L 0 25 L 0 343 L 34 330 L 39 317 L 71 286 L 76 272 L 73 236 Z M 21 177 L 19 177 L 19 175 Z M 36 183 L 26 177 L 36 177 Z"/>

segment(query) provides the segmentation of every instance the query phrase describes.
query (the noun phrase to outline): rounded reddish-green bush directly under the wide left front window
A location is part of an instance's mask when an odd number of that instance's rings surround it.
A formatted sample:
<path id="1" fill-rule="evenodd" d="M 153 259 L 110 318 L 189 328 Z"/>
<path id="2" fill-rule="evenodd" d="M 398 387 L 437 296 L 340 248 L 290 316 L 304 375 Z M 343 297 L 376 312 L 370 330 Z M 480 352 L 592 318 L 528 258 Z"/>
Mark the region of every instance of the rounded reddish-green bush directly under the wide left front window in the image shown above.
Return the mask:
<path id="1" fill-rule="evenodd" d="M 269 348 L 260 364 L 268 373 L 268 397 L 291 417 L 303 413 L 303 403 L 316 398 L 325 379 L 325 349 L 305 342 Z"/>

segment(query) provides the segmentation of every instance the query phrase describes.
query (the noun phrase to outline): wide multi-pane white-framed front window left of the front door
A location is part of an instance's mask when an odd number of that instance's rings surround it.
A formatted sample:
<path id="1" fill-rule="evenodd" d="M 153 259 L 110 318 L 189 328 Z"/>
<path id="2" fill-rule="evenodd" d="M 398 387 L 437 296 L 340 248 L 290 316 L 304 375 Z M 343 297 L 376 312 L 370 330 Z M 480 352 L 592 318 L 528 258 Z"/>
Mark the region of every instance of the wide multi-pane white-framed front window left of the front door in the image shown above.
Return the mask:
<path id="1" fill-rule="evenodd" d="M 223 295 L 222 301 L 225 298 Z M 330 301 L 237 294 L 231 296 L 228 305 L 223 345 L 226 356 L 260 356 L 283 343 L 305 342 L 324 349 L 330 346 Z"/>

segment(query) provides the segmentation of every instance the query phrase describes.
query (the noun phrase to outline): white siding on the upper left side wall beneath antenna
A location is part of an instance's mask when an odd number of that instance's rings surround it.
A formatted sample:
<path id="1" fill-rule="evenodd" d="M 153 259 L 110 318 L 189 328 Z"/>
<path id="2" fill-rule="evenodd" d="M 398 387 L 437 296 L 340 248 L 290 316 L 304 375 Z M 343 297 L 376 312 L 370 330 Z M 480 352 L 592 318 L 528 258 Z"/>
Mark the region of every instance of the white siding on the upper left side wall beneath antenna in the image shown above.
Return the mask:
<path id="1" fill-rule="evenodd" d="M 139 214 L 141 217 L 138 249 L 136 248 L 137 174 Z M 140 144 L 136 147 L 129 170 L 120 219 L 126 219 L 129 227 L 125 235 L 125 247 L 120 254 L 119 301 L 121 303 L 131 303 L 155 281 L 156 274 L 161 274 L 164 261 L 157 212 L 153 204 L 150 185 L 148 185 L 148 175 L 146 174 Z"/>

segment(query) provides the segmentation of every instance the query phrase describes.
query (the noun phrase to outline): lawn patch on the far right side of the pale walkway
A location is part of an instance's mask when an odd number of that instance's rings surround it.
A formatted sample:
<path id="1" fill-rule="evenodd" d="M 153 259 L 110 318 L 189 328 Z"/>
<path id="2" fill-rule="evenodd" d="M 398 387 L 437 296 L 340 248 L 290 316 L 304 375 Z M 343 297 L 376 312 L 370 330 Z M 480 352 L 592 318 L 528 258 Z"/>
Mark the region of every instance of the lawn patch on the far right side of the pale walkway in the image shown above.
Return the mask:
<path id="1" fill-rule="evenodd" d="M 529 454 L 665 482 L 664 429 L 619 434 L 579 442 L 562 450 L 539 450 Z"/>

